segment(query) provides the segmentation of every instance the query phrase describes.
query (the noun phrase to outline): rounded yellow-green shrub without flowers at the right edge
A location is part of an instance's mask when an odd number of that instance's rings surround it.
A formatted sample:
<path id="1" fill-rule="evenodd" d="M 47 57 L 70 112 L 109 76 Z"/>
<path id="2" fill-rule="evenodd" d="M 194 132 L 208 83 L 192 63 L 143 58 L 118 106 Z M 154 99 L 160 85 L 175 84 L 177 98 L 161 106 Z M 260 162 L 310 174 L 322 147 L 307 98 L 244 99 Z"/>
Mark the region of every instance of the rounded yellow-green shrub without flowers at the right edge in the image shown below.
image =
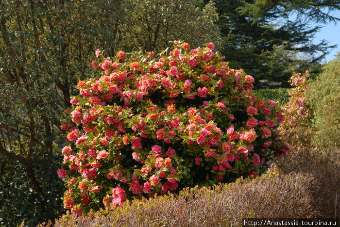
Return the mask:
<path id="1" fill-rule="evenodd" d="M 323 66 L 307 87 L 307 104 L 313 110 L 315 146 L 340 147 L 340 53 Z"/>

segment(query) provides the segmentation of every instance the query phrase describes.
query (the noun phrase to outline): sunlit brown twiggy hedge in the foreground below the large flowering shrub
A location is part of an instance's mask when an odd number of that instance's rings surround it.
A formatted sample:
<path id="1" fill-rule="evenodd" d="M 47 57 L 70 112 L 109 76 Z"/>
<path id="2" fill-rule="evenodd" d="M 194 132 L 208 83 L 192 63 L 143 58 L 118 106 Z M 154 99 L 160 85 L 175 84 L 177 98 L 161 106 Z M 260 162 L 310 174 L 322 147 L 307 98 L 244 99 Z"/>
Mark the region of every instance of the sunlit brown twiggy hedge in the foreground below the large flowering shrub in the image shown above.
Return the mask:
<path id="1" fill-rule="evenodd" d="M 179 195 L 133 201 L 92 218 L 64 216 L 55 226 L 68 227 L 217 227 L 239 226 L 242 218 L 318 217 L 310 174 L 257 178 L 207 188 L 186 189 Z M 50 225 L 48 225 L 50 226 Z"/>

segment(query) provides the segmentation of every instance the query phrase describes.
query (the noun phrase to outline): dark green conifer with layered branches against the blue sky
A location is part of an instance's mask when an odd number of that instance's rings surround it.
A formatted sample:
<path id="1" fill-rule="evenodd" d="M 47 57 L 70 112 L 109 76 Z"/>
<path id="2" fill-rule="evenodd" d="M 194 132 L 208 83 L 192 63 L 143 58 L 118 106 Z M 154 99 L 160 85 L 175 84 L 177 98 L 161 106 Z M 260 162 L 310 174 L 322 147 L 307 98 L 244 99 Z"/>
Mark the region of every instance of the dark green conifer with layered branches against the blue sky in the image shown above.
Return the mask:
<path id="1" fill-rule="evenodd" d="M 328 11 L 340 1 L 215 0 L 222 35 L 222 53 L 232 68 L 254 76 L 256 88 L 289 87 L 292 71 L 318 73 L 321 61 L 335 46 L 313 44 L 320 26 L 337 22 Z M 296 19 L 292 20 L 292 14 Z"/>

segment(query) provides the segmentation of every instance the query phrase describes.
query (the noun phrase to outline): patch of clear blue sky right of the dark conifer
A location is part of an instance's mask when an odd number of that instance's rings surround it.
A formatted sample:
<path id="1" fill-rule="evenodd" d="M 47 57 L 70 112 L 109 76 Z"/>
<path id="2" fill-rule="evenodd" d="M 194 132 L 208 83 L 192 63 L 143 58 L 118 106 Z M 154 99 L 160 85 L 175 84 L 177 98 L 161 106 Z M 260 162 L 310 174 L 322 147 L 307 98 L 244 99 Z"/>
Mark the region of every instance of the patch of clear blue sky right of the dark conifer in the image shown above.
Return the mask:
<path id="1" fill-rule="evenodd" d="M 332 13 L 332 16 L 340 18 L 340 12 Z M 316 24 L 317 25 L 317 24 Z M 320 43 L 321 40 L 326 40 L 329 42 L 329 46 L 338 45 L 336 48 L 332 49 L 330 53 L 326 56 L 325 60 L 323 61 L 331 61 L 337 55 L 337 52 L 340 51 L 340 22 L 337 24 L 331 22 L 326 25 L 320 24 L 323 28 L 320 32 L 316 33 L 313 42 L 315 44 Z"/>

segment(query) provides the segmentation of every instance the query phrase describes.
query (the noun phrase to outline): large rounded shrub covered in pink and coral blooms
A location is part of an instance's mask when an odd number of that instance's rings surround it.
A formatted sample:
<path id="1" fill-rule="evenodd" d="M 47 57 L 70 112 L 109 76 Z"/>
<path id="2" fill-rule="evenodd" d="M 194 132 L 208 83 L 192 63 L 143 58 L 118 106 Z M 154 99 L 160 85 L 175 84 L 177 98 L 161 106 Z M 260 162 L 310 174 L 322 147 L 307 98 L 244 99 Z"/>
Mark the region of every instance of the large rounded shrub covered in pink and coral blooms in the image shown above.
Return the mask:
<path id="1" fill-rule="evenodd" d="M 96 52 L 95 76 L 79 81 L 59 170 L 72 213 L 118 206 L 186 186 L 257 176 L 287 154 L 276 102 L 254 97 L 253 77 L 230 69 L 214 45 L 127 57 Z"/>

